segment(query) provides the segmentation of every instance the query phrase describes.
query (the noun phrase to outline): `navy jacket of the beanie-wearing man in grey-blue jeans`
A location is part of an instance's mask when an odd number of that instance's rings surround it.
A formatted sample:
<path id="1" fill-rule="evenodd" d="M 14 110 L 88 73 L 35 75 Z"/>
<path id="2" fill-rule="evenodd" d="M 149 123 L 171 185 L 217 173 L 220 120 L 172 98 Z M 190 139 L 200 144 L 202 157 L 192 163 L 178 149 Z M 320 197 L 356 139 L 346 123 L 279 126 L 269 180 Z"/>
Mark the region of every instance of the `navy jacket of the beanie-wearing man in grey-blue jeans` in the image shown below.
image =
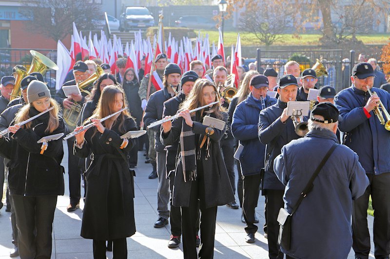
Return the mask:
<path id="1" fill-rule="evenodd" d="M 164 108 L 164 102 L 171 99 L 172 96 L 168 92 L 167 88 L 160 89 L 154 92 L 146 104 L 145 114 L 143 116 L 143 122 L 145 126 L 148 126 L 152 122 L 162 119 L 162 111 Z M 165 146 L 160 141 L 160 125 L 152 128 L 155 132 L 155 149 L 156 152 L 163 152 Z"/>

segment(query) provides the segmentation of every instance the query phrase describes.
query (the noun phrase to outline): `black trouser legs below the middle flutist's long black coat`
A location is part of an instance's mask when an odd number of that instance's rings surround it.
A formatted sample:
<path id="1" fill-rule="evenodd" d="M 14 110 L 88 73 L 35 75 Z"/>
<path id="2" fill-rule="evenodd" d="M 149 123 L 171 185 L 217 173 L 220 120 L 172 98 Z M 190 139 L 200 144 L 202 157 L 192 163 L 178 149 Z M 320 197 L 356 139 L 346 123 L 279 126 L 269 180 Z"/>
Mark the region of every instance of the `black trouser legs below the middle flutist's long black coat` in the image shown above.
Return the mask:
<path id="1" fill-rule="evenodd" d="M 113 259 L 127 259 L 126 238 L 114 239 L 113 241 Z M 94 259 L 106 259 L 106 241 L 93 241 Z"/>

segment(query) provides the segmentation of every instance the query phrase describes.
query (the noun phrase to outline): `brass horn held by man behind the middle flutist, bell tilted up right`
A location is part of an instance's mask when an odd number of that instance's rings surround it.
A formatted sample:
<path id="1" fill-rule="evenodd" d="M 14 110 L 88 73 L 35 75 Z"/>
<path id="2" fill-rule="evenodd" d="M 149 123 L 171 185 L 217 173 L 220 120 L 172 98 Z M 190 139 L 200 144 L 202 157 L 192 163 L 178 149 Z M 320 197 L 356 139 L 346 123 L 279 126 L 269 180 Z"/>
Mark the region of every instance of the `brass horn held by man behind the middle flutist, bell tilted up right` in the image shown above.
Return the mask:
<path id="1" fill-rule="evenodd" d="M 85 79 L 81 83 L 77 84 L 78 88 L 80 88 L 80 92 L 84 92 L 87 95 L 90 95 L 91 93 L 88 90 L 86 90 L 86 88 L 92 83 L 94 83 L 103 73 L 104 70 L 97 65 L 95 73 L 90 75 L 87 79 Z M 80 118 L 81 115 L 82 104 L 79 104 L 78 102 L 73 100 L 72 102 L 73 105 L 70 109 L 64 109 L 63 118 L 66 124 L 68 124 L 70 128 L 74 129 L 77 126 L 78 119 Z"/>

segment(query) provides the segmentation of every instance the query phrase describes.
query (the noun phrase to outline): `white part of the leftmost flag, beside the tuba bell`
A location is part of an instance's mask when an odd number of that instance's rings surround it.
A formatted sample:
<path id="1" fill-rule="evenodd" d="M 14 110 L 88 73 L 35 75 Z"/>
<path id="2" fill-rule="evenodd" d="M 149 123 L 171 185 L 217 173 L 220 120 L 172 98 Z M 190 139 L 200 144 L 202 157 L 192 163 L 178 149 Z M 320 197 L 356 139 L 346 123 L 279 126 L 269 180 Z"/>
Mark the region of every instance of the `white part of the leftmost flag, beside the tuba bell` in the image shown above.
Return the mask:
<path id="1" fill-rule="evenodd" d="M 56 89 L 59 90 L 64 83 L 65 77 L 70 69 L 73 68 L 72 57 L 68 49 L 59 40 L 57 43 L 57 66 L 59 69 L 56 72 Z"/>

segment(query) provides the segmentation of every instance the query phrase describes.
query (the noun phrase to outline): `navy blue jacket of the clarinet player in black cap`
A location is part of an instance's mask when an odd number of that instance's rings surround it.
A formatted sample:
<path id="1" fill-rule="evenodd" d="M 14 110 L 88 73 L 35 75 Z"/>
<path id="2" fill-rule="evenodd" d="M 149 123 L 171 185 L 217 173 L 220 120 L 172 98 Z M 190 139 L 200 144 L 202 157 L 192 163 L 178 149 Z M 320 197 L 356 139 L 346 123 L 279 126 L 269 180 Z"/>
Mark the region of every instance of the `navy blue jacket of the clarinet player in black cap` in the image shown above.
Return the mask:
<path id="1" fill-rule="evenodd" d="M 276 99 L 266 96 L 266 107 L 276 104 Z M 242 175 L 260 173 L 264 167 L 265 145 L 258 138 L 257 123 L 261 111 L 261 102 L 253 98 L 252 93 L 234 110 L 232 133 L 240 141 L 244 149 L 240 155 Z"/>

